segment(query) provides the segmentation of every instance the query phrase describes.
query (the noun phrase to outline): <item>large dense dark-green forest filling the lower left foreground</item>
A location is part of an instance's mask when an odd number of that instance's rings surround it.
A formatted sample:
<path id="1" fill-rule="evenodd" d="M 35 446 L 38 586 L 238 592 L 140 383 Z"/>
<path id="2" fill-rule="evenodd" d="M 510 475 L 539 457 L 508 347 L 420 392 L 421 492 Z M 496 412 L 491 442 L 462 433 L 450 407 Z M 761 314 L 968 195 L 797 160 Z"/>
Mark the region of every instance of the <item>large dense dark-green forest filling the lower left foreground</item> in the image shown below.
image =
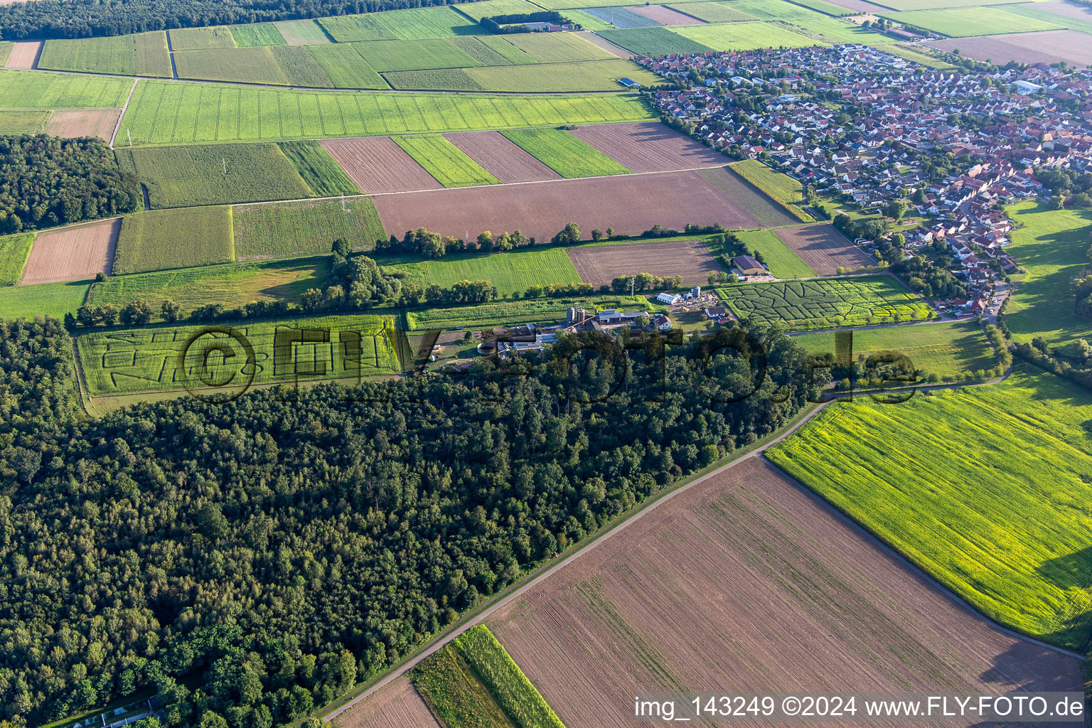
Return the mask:
<path id="1" fill-rule="evenodd" d="M 152 689 L 165 726 L 286 725 L 826 383 L 739 324 L 96 419 L 59 323 L 0 324 L 0 725 L 20 728 Z"/>

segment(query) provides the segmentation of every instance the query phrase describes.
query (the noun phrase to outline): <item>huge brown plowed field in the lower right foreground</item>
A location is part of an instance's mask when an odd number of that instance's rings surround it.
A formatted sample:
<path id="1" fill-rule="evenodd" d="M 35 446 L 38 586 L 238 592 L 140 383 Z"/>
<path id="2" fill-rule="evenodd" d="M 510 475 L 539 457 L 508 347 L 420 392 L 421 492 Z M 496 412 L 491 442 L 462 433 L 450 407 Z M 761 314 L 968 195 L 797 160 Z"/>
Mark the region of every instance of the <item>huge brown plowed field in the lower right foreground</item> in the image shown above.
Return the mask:
<path id="1" fill-rule="evenodd" d="M 758 458 L 487 622 L 568 728 L 648 725 L 638 691 L 1083 689 L 1078 660 L 992 628 Z"/>

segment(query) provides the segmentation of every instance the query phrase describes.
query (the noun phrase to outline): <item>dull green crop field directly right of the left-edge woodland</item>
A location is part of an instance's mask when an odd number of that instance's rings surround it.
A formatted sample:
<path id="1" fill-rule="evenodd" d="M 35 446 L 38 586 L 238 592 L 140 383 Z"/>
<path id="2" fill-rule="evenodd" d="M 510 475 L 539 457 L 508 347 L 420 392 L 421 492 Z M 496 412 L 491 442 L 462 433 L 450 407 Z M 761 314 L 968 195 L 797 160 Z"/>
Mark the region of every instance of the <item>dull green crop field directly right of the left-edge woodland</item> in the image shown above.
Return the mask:
<path id="1" fill-rule="evenodd" d="M 147 186 L 153 208 L 313 196 L 272 143 L 120 148 L 117 157 Z"/>

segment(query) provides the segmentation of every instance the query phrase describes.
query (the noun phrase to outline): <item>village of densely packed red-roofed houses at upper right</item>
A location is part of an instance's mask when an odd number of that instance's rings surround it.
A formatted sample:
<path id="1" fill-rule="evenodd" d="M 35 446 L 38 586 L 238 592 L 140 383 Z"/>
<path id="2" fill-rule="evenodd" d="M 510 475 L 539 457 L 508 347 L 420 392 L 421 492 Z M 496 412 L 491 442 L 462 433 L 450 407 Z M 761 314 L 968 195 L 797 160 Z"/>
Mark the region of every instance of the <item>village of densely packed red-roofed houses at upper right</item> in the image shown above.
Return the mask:
<path id="1" fill-rule="evenodd" d="M 1049 199 L 1036 170 L 1090 168 L 1089 70 L 945 73 L 858 45 L 639 62 L 681 86 L 652 92 L 665 117 L 729 156 L 761 159 L 802 182 L 812 210 L 829 210 L 835 227 L 957 317 L 996 315 L 1004 282 L 1020 272 L 1005 250 L 1012 225 L 1004 205 Z M 885 214 L 891 203 L 902 203 L 899 229 L 885 224 L 870 236 L 836 214 L 839 204 L 858 217 Z M 900 270 L 913 259 L 912 275 Z M 945 268 L 934 281 L 950 274 L 958 283 L 921 285 L 922 262 Z"/>

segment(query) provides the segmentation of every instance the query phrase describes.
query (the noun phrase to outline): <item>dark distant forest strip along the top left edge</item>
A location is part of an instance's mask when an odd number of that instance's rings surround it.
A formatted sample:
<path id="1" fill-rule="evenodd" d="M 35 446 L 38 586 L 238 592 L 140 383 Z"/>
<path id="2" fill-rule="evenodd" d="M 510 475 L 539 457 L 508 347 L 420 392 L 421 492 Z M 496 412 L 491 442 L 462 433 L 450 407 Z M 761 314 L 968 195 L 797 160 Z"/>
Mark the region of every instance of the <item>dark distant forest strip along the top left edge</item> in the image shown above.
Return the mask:
<path id="1" fill-rule="evenodd" d="M 380 10 L 443 5 L 428 0 L 33 0 L 0 7 L 3 40 L 90 38 Z"/>

